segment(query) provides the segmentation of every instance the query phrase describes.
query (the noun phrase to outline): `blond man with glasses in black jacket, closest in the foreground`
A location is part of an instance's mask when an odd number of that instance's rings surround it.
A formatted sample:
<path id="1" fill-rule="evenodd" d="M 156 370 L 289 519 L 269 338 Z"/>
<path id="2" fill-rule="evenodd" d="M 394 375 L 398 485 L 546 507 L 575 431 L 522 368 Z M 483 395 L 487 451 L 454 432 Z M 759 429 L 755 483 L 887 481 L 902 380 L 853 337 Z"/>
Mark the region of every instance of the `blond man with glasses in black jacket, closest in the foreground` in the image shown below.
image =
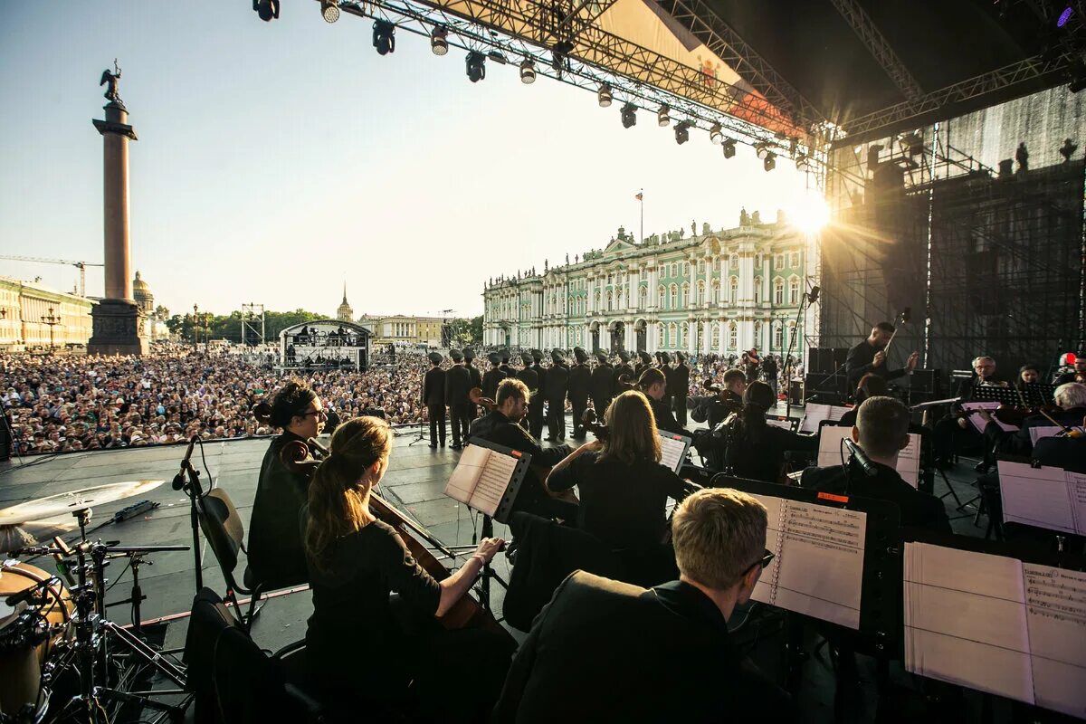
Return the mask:
<path id="1" fill-rule="evenodd" d="M 563 582 L 517 650 L 492 721 L 791 719 L 787 696 L 728 633 L 773 558 L 765 506 L 707 488 L 679 506 L 671 528 L 678 581 L 646 589 L 577 571 Z"/>

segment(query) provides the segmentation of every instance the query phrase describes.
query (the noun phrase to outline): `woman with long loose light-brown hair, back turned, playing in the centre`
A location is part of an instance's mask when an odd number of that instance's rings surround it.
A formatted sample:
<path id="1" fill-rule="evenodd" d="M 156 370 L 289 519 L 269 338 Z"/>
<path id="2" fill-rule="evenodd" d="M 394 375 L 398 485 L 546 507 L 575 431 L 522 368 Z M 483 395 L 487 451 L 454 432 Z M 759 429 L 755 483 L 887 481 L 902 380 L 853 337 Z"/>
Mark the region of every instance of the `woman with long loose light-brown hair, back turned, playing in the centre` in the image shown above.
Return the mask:
<path id="1" fill-rule="evenodd" d="M 667 499 L 685 497 L 681 478 L 660 465 L 660 440 L 648 399 L 623 392 L 604 416 L 607 440 L 581 445 L 546 479 L 553 492 L 574 485 L 581 499 L 578 528 L 611 549 L 655 552 L 667 530 Z"/>

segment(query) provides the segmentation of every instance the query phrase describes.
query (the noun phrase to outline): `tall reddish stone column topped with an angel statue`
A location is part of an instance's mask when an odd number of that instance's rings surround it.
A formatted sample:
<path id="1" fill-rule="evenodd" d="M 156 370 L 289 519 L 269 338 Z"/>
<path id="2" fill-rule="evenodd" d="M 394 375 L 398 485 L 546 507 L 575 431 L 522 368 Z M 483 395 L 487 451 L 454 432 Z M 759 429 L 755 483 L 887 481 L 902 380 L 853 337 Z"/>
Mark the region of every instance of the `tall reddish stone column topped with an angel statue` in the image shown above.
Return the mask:
<path id="1" fill-rule="evenodd" d="M 109 84 L 105 98 L 110 101 L 103 106 L 105 120 L 94 119 L 104 150 L 105 297 L 91 309 L 93 333 L 87 352 L 141 355 L 148 351 L 148 341 L 140 336 L 143 315 L 132 299 L 128 236 L 128 140 L 136 140 L 136 130 L 128 125 L 128 109 L 117 93 L 121 68 L 116 61 L 113 69 L 102 72 L 98 84 Z"/>

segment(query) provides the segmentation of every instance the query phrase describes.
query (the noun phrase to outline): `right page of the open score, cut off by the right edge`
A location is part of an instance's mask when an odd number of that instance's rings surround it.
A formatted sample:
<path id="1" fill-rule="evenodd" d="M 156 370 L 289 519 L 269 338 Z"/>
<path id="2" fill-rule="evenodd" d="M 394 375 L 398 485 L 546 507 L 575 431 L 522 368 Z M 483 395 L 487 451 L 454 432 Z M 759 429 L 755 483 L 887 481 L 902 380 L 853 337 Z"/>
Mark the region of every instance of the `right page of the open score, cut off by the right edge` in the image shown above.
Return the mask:
<path id="1" fill-rule="evenodd" d="M 1022 563 L 1038 707 L 1086 716 L 1086 573 Z"/>

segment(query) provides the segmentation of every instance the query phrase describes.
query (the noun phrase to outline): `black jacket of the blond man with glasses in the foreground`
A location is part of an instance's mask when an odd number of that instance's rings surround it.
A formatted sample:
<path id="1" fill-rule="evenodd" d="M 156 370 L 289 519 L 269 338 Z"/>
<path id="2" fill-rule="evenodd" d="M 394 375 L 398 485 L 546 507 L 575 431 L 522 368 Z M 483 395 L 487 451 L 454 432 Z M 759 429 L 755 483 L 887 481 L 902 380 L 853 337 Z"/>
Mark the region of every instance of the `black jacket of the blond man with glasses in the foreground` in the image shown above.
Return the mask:
<path id="1" fill-rule="evenodd" d="M 699 589 L 577 571 L 517 650 L 492 721 L 783 722 L 790 713 L 785 695 L 743 664 Z"/>

